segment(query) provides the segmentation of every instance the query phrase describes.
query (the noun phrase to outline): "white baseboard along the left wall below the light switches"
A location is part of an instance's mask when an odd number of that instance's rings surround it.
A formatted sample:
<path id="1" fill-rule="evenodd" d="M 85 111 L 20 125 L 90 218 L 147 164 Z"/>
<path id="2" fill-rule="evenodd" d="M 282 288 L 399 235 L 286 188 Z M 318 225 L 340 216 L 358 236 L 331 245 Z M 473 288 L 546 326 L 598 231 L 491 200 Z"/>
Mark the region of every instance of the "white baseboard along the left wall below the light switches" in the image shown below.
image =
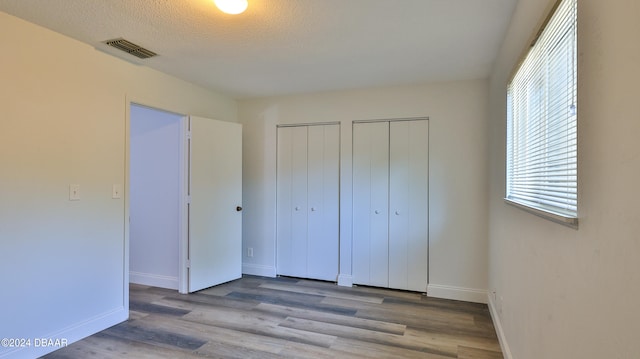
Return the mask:
<path id="1" fill-rule="evenodd" d="M 16 348 L 9 351 L 0 350 L 0 358 L 39 358 L 45 354 L 61 349 L 65 346 L 65 343 L 66 345 L 71 345 L 78 340 L 121 323 L 127 320 L 127 318 L 129 318 L 129 311 L 125 310 L 124 307 L 118 307 L 54 333 L 36 334 L 32 338 L 29 338 L 31 340 L 30 347 Z M 49 339 L 52 341 L 49 341 Z M 53 344 L 53 346 L 49 346 L 49 344 Z M 58 344 L 60 345 L 57 346 Z"/>

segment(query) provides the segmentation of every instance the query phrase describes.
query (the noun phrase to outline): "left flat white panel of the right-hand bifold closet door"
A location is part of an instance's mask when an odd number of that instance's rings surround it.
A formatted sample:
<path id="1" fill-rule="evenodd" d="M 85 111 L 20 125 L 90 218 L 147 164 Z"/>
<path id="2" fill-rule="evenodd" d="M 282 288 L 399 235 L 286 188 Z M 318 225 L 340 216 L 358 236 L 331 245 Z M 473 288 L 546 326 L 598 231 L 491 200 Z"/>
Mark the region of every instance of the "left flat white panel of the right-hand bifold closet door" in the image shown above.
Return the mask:
<path id="1" fill-rule="evenodd" d="M 389 123 L 353 125 L 353 279 L 388 286 Z"/>

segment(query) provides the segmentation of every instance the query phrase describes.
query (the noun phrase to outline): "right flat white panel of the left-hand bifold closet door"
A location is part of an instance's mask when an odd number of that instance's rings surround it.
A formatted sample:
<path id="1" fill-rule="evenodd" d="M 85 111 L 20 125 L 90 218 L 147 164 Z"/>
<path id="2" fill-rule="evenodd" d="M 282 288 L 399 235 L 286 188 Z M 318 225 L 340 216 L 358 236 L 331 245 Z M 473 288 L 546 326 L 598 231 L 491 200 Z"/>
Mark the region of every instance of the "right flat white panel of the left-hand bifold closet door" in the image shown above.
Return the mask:
<path id="1" fill-rule="evenodd" d="M 338 277 L 339 136 L 337 124 L 308 128 L 308 278 Z"/>

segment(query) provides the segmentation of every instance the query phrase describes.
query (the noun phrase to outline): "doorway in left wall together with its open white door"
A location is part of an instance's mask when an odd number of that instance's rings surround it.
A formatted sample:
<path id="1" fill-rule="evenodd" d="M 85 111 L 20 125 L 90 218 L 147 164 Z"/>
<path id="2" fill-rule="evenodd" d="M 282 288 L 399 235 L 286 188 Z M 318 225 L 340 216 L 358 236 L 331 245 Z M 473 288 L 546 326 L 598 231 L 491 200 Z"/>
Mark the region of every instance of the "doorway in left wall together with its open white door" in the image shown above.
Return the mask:
<path id="1" fill-rule="evenodd" d="M 190 293 L 240 278 L 242 126 L 131 102 L 127 128 L 125 282 Z"/>

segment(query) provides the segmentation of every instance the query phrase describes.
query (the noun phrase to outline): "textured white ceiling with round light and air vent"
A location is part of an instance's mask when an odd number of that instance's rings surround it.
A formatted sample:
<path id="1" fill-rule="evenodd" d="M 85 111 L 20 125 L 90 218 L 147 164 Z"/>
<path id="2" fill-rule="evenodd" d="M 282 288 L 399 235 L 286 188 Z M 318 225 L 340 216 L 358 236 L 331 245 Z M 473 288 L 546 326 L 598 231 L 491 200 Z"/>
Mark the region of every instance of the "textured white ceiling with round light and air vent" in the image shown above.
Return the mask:
<path id="1" fill-rule="evenodd" d="M 517 0 L 0 0 L 0 11 L 235 98 L 485 78 Z M 103 41 L 159 56 L 139 60 Z M 6 45 L 6 44 L 5 44 Z"/>

